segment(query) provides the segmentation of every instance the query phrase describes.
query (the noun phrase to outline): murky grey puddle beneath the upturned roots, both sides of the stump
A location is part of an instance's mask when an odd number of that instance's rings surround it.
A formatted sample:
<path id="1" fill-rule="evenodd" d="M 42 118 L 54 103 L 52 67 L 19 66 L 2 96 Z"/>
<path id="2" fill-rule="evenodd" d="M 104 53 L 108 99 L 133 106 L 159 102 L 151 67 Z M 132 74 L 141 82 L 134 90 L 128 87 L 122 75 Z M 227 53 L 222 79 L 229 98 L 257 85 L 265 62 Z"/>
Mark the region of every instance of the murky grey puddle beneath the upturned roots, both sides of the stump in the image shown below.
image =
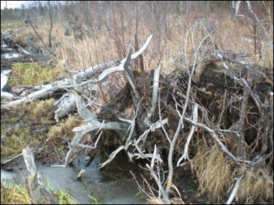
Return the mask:
<path id="1" fill-rule="evenodd" d="M 134 196 L 138 193 L 138 186 L 128 171 L 131 169 L 136 172 L 136 165 L 127 163 L 125 156 L 120 155 L 105 170 L 99 170 L 98 165 L 102 158 L 105 156 L 96 156 L 88 167 L 85 167 L 84 159 L 79 158 L 72 167 L 50 167 L 37 163 L 37 168 L 51 187 L 68 189 L 80 204 L 95 203 L 88 195 L 95 197 L 99 204 L 146 204 L 145 199 Z M 86 170 L 86 175 L 79 181 L 76 176 L 81 169 Z M 20 183 L 21 176 L 25 174 L 25 170 L 21 170 L 19 174 L 18 171 L 6 172 L 1 169 L 1 180 L 6 178 Z"/>

